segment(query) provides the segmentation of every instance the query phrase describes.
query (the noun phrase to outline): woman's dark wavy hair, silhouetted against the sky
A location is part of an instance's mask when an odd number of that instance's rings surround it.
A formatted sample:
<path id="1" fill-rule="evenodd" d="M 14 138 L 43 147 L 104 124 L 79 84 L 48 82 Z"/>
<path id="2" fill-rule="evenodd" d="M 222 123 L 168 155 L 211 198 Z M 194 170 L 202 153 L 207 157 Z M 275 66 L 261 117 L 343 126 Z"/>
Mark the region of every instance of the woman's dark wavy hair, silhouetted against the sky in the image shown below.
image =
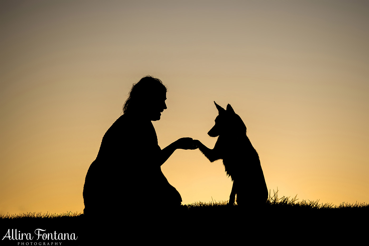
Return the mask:
<path id="1" fill-rule="evenodd" d="M 123 114 L 135 111 L 148 102 L 150 98 L 158 96 L 158 94 L 166 92 L 167 89 L 160 79 L 152 76 L 146 76 L 133 84 L 127 100 L 123 105 Z"/>

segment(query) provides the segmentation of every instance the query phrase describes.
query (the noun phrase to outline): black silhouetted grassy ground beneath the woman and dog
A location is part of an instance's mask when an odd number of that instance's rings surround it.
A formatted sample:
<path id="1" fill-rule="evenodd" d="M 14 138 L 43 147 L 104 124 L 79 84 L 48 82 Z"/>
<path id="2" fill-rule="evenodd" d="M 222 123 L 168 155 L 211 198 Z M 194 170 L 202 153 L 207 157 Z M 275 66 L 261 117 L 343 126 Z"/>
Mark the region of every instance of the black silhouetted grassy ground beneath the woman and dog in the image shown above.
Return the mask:
<path id="1" fill-rule="evenodd" d="M 320 204 L 299 201 L 296 197 L 279 198 L 276 191 L 262 208 L 212 201 L 170 211 L 150 207 L 146 211 L 128 211 L 123 206 L 113 213 L 96 211 L 90 218 L 78 212 L 2 215 L 0 246 L 22 242 L 23 245 L 217 244 L 234 243 L 236 239 L 251 245 L 283 240 L 303 244 L 310 240 L 319 244 L 354 243 L 367 234 L 368 215 L 368 204 Z M 39 238 L 35 231 L 41 235 Z M 23 239 L 21 233 L 25 233 Z M 26 238 L 27 233 L 28 238 L 33 237 L 31 240 Z M 72 240 L 72 233 L 76 240 Z"/>

